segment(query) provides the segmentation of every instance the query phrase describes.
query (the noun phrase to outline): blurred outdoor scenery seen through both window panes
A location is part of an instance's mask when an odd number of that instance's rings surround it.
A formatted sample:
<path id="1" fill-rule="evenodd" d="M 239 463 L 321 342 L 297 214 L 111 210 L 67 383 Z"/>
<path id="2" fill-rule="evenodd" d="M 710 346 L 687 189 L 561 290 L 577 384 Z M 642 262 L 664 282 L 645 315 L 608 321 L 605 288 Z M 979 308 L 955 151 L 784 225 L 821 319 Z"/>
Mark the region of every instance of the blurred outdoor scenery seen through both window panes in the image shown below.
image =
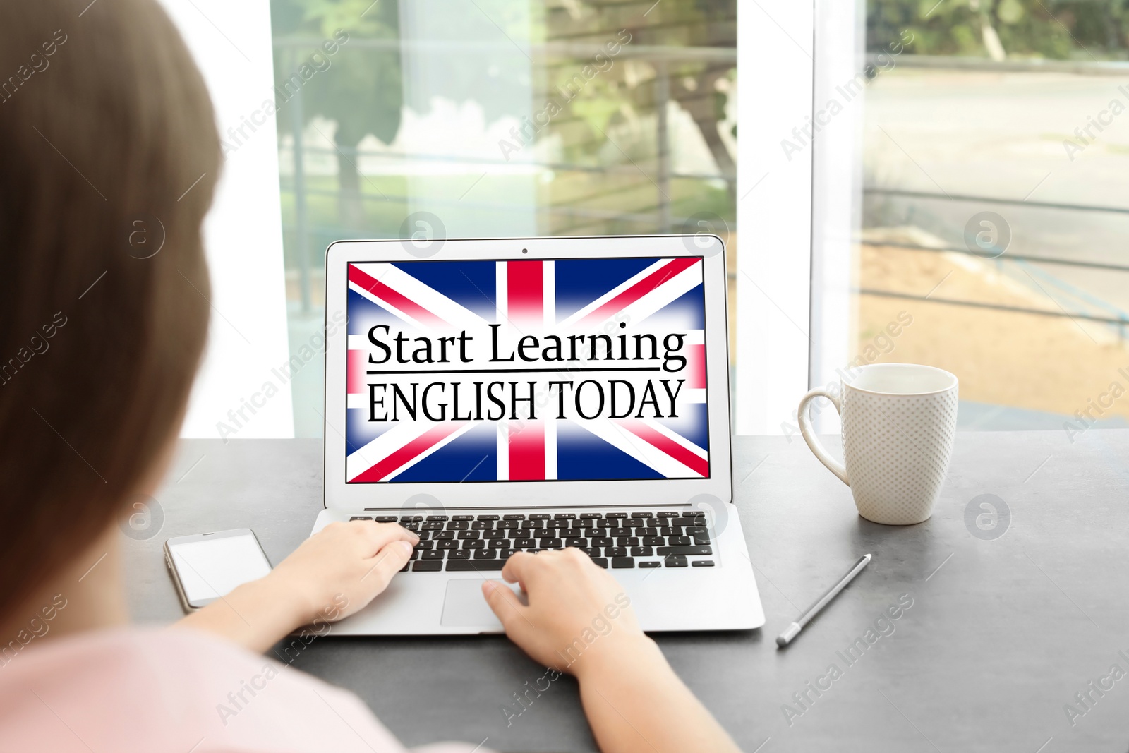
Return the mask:
<path id="1" fill-rule="evenodd" d="M 1129 0 L 855 1 L 852 358 L 956 373 L 963 428 L 1129 426 Z M 271 10 L 291 351 L 339 238 L 704 229 L 733 277 L 736 0 Z"/>

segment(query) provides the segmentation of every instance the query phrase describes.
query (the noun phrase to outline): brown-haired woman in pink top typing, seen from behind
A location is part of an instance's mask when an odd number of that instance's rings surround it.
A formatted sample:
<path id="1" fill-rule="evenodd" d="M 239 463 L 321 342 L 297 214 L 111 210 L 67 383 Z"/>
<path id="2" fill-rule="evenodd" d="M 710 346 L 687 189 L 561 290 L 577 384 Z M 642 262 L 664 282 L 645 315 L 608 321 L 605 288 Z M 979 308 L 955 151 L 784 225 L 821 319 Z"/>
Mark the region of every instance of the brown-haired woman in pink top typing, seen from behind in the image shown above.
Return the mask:
<path id="1" fill-rule="evenodd" d="M 341 595 L 336 616 L 378 597 L 417 541 L 400 526 L 330 526 L 173 629 L 128 625 L 117 524 L 167 469 L 204 347 L 200 226 L 222 160 L 157 2 L 82 5 L 6 3 L 0 23 L 0 747 L 402 751 L 351 694 L 257 655 Z M 164 247 L 131 254 L 152 218 Z M 528 605 L 495 583 L 484 598 L 514 642 L 577 676 L 602 750 L 736 750 L 630 606 L 559 664 L 622 606 L 585 554 L 516 554 L 502 577 Z M 252 677 L 268 684 L 248 695 Z"/>

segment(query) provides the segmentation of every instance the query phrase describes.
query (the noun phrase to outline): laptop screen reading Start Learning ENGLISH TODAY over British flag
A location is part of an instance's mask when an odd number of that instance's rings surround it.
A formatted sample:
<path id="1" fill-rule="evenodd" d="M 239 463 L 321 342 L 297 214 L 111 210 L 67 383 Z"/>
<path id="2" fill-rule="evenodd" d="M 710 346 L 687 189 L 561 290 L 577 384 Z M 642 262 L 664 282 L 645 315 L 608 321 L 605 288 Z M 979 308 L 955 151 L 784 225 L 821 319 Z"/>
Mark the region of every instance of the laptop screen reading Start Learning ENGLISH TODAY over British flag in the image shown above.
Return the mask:
<path id="1" fill-rule="evenodd" d="M 702 268 L 350 263 L 347 483 L 709 478 Z"/>

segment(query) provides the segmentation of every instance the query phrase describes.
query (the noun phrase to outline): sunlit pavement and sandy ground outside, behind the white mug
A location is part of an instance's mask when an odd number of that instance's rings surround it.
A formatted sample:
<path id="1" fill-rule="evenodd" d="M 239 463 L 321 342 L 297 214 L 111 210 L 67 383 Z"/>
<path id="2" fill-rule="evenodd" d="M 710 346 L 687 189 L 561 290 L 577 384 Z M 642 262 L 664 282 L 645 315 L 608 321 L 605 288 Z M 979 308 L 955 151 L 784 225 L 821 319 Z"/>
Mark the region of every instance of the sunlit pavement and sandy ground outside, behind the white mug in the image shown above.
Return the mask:
<path id="1" fill-rule="evenodd" d="M 1129 114 L 1086 145 L 1075 132 L 1113 99 L 1129 106 L 1129 77 L 904 68 L 872 82 L 864 182 L 884 191 L 863 205 L 856 352 L 908 312 L 876 360 L 956 374 L 964 428 L 1127 426 L 1129 331 L 1113 322 L 1129 318 Z M 968 253 L 983 211 L 1012 235 L 998 259 Z"/>

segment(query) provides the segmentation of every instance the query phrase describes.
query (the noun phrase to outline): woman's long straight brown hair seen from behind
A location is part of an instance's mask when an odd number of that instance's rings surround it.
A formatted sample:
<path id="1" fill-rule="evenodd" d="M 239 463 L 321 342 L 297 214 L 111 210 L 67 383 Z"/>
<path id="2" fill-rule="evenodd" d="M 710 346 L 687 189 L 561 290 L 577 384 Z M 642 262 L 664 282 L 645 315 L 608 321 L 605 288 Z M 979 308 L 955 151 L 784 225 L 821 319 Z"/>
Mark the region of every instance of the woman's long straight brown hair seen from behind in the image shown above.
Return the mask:
<path id="1" fill-rule="evenodd" d="M 122 515 L 208 329 L 203 79 L 155 0 L 84 5 L 0 11 L 3 616 Z"/>

